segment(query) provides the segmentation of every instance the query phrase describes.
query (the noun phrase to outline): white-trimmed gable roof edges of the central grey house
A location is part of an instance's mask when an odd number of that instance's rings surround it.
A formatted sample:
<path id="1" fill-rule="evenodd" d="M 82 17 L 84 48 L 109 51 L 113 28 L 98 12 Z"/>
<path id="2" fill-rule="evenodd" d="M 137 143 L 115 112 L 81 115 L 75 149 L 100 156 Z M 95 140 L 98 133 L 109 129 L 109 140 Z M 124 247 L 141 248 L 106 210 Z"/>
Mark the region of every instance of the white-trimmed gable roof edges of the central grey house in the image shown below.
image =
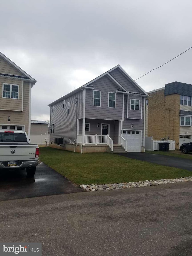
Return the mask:
<path id="1" fill-rule="evenodd" d="M 131 80 L 131 83 L 133 83 L 134 86 L 136 86 L 140 91 L 142 91 L 142 94 L 149 96 L 149 95 L 147 94 L 147 92 L 145 92 L 145 91 L 144 91 L 144 90 L 126 73 L 126 72 L 125 72 L 125 70 L 122 69 L 122 67 L 121 67 L 120 65 L 117 65 L 117 66 L 115 66 L 114 68 L 112 68 L 112 69 L 108 70 L 107 72 L 101 74 L 100 76 L 96 77 L 95 79 L 91 80 L 90 82 L 88 82 L 88 83 L 82 85 L 81 87 L 75 89 L 74 91 L 72 91 L 72 92 L 70 92 L 70 93 L 64 95 L 63 97 L 57 99 L 56 101 L 53 101 L 53 102 L 50 103 L 48 106 L 52 106 L 52 105 L 54 105 L 54 104 L 56 104 L 56 103 L 58 103 L 58 102 L 64 100 L 65 98 L 69 97 L 70 95 L 73 95 L 73 94 L 75 94 L 76 92 L 79 92 L 82 88 L 94 89 L 94 86 L 92 86 L 91 83 L 97 81 L 98 79 L 100 79 L 100 78 L 102 78 L 102 77 L 104 77 L 104 76 L 107 76 L 107 77 L 117 86 L 117 90 L 118 90 L 119 92 L 129 93 L 129 92 L 128 92 L 128 91 L 110 74 L 110 72 L 113 71 L 113 70 L 116 69 L 116 68 L 119 68 L 119 69 L 121 70 L 121 72 L 123 72 L 124 75 L 125 75 L 126 77 L 128 77 L 129 80 Z"/>

